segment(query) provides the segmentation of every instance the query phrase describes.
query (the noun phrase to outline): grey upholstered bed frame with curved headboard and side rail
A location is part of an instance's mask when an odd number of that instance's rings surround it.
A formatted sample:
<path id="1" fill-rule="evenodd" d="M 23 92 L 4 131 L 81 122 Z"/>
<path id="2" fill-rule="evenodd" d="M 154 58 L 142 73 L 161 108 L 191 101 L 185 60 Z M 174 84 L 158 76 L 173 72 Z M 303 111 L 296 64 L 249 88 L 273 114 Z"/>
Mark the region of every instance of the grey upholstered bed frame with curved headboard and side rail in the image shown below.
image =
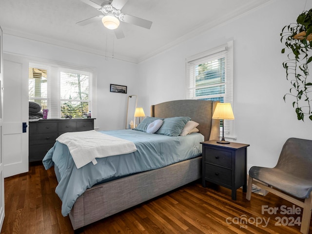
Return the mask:
<path id="1" fill-rule="evenodd" d="M 212 119 L 218 101 L 174 100 L 151 106 L 152 117 L 188 116 L 198 122 L 204 140 L 219 139 L 220 122 Z M 56 173 L 58 175 L 58 173 Z M 69 213 L 74 230 L 170 192 L 201 177 L 201 156 L 138 173 L 87 189 Z"/>

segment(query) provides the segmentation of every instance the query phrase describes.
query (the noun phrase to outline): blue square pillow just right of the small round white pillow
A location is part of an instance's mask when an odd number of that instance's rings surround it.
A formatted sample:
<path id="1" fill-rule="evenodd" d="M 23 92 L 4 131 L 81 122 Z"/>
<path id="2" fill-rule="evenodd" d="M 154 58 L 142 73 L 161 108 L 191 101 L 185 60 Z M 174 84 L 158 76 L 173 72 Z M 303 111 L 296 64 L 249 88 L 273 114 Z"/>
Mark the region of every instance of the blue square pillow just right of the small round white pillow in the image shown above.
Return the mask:
<path id="1" fill-rule="evenodd" d="M 156 134 L 167 135 L 170 137 L 179 136 L 185 124 L 191 120 L 190 117 L 171 117 L 165 118 L 162 126 Z"/>

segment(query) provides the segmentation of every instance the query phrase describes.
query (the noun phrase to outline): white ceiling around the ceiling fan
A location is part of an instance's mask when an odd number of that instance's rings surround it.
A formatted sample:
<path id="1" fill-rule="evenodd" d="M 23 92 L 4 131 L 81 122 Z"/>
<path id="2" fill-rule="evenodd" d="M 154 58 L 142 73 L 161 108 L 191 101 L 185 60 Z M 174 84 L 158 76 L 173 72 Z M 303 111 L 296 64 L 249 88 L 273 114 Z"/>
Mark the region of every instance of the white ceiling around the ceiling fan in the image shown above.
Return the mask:
<path id="1" fill-rule="evenodd" d="M 101 4 L 105 0 L 94 1 Z M 0 0 L 0 25 L 7 35 L 140 62 L 268 1 L 128 0 L 122 13 L 153 24 L 145 29 L 120 22 L 123 39 L 116 39 L 101 21 L 76 25 L 101 14 L 80 0 Z"/>

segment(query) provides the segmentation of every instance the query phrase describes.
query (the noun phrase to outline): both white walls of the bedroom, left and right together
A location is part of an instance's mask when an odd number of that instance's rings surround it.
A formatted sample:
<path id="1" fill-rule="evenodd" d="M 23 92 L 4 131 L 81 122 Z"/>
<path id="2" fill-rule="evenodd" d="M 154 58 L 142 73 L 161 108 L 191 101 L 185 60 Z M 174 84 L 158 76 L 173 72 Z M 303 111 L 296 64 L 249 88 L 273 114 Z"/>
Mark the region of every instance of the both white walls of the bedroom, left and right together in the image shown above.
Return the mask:
<path id="1" fill-rule="evenodd" d="M 100 130 L 125 125 L 127 98 L 138 95 L 145 114 L 150 105 L 184 99 L 185 59 L 234 41 L 234 128 L 237 142 L 248 143 L 248 164 L 274 166 L 289 137 L 312 139 L 312 121 L 296 120 L 280 51 L 283 26 L 295 22 L 306 0 L 273 0 L 170 50 L 132 64 L 14 36 L 3 36 L 3 50 L 36 59 L 92 67 L 97 72 L 97 118 Z M 307 2 L 306 9 L 312 8 Z M 5 69 L 5 68 L 4 68 Z M 110 93 L 110 83 L 128 86 L 128 94 Z"/>

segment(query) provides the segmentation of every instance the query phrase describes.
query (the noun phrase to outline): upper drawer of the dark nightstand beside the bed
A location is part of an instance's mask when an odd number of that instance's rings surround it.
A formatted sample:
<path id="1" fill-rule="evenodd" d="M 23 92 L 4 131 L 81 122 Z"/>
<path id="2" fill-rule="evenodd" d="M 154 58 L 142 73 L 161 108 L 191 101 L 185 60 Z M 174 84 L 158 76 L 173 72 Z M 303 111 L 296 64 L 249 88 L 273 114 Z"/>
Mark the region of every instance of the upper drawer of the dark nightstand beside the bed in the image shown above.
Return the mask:
<path id="1" fill-rule="evenodd" d="M 205 148 L 205 162 L 232 168 L 232 153 L 223 150 Z"/>

